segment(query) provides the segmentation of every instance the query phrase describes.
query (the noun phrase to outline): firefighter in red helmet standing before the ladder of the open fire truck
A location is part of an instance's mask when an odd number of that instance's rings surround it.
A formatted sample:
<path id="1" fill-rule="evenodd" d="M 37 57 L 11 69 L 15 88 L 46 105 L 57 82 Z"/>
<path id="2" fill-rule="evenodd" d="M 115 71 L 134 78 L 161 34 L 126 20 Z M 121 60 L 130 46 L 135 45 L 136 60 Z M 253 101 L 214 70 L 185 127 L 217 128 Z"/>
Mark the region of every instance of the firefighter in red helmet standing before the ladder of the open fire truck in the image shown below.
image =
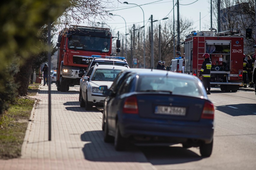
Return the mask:
<path id="1" fill-rule="evenodd" d="M 212 62 L 210 59 L 210 55 L 208 53 L 203 54 L 203 65 L 202 68 L 199 72 L 199 76 L 203 76 L 203 85 L 204 88 L 207 91 L 207 94 L 210 95 L 210 89 L 211 89 L 211 84 L 210 84 L 210 77 L 211 77 L 211 67 L 212 67 Z"/>

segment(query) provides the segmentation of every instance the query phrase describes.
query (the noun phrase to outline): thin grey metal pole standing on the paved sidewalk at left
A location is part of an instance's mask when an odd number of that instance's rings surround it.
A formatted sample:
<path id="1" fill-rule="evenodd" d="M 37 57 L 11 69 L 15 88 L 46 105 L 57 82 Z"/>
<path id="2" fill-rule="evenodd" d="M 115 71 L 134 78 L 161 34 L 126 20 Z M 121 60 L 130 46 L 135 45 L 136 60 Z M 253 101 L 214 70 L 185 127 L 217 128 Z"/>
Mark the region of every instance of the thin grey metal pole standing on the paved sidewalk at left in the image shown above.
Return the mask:
<path id="1" fill-rule="evenodd" d="M 51 141 L 51 22 L 48 22 L 48 140 Z"/>

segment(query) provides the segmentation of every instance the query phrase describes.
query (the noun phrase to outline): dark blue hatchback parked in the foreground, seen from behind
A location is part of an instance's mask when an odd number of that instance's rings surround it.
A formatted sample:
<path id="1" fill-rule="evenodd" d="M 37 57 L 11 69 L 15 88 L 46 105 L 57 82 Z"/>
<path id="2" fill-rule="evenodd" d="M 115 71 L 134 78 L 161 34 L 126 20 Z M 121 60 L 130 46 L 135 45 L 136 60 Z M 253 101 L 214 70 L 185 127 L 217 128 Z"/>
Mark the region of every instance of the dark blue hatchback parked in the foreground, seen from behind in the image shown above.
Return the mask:
<path id="1" fill-rule="evenodd" d="M 104 100 L 104 141 L 117 151 L 133 143 L 181 143 L 212 154 L 214 106 L 199 78 L 156 69 L 121 71 Z"/>

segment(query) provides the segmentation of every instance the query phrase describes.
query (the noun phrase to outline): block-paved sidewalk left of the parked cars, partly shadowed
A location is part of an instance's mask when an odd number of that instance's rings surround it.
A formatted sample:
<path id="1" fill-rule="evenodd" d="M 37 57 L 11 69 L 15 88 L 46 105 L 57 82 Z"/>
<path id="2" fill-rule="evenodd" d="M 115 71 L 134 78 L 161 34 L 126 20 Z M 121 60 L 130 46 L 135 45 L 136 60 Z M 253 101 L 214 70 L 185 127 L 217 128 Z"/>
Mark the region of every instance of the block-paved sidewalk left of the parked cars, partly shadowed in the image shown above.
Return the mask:
<path id="1" fill-rule="evenodd" d="M 48 86 L 40 86 L 40 99 L 24 139 L 21 158 L 0 160 L 0 170 L 50 169 L 155 169 L 136 148 L 117 152 L 103 142 L 102 113 L 80 107 L 79 91 L 51 86 L 52 136 L 48 141 Z"/>

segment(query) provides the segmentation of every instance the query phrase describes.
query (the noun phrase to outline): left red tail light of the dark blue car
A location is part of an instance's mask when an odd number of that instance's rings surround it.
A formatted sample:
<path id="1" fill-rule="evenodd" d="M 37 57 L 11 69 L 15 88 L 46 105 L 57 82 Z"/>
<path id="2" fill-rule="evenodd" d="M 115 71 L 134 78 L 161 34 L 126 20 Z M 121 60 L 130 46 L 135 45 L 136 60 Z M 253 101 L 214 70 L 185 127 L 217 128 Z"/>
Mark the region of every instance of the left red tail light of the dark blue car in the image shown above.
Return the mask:
<path id="1" fill-rule="evenodd" d="M 123 113 L 139 114 L 136 96 L 130 96 L 126 98 L 123 105 Z"/>

